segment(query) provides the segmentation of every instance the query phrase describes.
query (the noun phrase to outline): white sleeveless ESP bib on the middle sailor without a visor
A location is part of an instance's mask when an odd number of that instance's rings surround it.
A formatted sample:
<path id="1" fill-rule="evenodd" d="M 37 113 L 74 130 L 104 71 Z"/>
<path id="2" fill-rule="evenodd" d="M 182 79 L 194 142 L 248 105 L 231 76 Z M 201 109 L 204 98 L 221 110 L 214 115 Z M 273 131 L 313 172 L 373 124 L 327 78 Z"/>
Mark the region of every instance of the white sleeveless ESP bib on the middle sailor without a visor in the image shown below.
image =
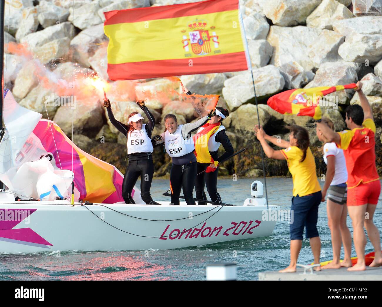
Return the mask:
<path id="1" fill-rule="evenodd" d="M 183 125 L 179 125 L 173 134 L 170 134 L 168 130 L 165 132 L 165 149 L 170 157 L 181 157 L 195 150 L 192 137 L 188 140 L 183 139 L 182 127 Z"/>

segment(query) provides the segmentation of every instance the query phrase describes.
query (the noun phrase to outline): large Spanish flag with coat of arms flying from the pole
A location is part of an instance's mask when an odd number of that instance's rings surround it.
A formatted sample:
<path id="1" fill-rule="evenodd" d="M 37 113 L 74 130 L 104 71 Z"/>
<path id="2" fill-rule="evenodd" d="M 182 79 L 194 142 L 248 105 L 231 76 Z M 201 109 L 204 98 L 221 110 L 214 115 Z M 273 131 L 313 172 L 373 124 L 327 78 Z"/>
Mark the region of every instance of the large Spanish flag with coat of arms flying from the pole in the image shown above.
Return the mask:
<path id="1" fill-rule="evenodd" d="M 251 69 L 238 0 L 104 14 L 111 80 Z"/>

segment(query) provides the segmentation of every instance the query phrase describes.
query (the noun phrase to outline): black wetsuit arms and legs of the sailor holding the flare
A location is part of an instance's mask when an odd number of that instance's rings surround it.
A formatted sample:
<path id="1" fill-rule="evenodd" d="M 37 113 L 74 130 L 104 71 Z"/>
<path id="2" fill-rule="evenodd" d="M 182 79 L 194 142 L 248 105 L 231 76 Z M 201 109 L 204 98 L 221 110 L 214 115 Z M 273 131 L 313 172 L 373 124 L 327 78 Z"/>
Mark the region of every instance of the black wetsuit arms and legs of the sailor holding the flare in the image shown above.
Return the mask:
<path id="1" fill-rule="evenodd" d="M 146 124 L 146 133 L 151 139 L 151 133 L 154 129 L 155 119 L 147 107 L 143 107 L 142 110 L 146 114 L 149 122 Z M 109 116 L 110 122 L 115 128 L 118 129 L 124 136 L 128 138 L 129 127 L 126 124 L 117 121 L 113 115 L 111 106 L 107 108 L 107 114 Z M 122 197 L 126 204 L 135 204 L 131 192 L 138 180 L 141 177 L 141 197 L 146 204 L 157 204 L 152 200 L 150 195 L 150 188 L 152 177 L 154 174 L 154 163 L 152 162 L 151 152 L 138 152 L 131 153 L 127 155 L 129 158 L 129 163 L 126 168 L 125 176 L 123 177 L 122 183 Z"/>

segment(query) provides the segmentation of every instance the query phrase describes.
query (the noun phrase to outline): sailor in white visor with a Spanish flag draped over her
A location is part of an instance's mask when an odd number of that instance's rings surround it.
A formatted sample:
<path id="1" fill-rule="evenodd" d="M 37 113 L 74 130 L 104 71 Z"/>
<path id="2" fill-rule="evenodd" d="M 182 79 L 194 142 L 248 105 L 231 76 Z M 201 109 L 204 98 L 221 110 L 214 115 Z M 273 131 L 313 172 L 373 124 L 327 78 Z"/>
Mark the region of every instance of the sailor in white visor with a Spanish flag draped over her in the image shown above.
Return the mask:
<path id="1" fill-rule="evenodd" d="M 225 134 L 225 127 L 222 125 L 223 119 L 230 113 L 222 107 L 216 107 L 215 112 L 216 115 L 199 128 L 194 138 L 196 144 L 201 144 L 201 146 L 195 146 L 198 174 L 196 176 L 196 198 L 207 200 L 206 193 L 204 192 L 204 185 L 206 185 L 207 192 L 214 205 L 221 205 L 222 199 L 216 187 L 219 170 L 218 164 L 219 161 L 233 154 L 233 147 L 227 134 Z M 220 145 L 223 145 L 225 153 L 218 157 L 217 151 Z M 206 169 L 208 166 L 212 168 L 212 171 L 207 173 Z M 206 203 L 199 202 L 199 205 L 206 205 Z"/>

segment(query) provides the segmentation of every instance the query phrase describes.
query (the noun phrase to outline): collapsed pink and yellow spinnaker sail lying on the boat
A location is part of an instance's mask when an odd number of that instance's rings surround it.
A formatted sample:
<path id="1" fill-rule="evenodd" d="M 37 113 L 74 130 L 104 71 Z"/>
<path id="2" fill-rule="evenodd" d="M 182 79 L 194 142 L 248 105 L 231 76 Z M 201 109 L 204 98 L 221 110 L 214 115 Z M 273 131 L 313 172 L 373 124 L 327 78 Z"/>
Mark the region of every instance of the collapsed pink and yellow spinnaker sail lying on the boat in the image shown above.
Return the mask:
<path id="1" fill-rule="evenodd" d="M 41 141 L 45 151 L 53 155 L 51 163 L 54 161 L 59 169 L 73 168 L 79 200 L 107 204 L 123 202 L 123 175 L 115 166 L 79 149 L 53 121 L 40 120 L 33 134 Z"/>

